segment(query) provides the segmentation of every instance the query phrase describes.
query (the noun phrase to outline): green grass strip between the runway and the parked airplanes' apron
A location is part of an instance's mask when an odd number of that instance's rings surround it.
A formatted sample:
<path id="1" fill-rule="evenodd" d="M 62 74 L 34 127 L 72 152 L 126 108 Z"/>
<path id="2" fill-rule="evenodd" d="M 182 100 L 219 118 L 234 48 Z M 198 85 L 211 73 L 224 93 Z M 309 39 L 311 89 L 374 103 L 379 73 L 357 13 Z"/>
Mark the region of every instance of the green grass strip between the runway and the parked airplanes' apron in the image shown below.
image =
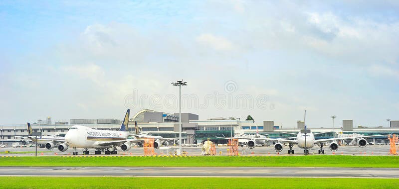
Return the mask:
<path id="1" fill-rule="evenodd" d="M 398 156 L 41 156 L 0 157 L 0 166 L 375 167 L 399 168 Z"/>

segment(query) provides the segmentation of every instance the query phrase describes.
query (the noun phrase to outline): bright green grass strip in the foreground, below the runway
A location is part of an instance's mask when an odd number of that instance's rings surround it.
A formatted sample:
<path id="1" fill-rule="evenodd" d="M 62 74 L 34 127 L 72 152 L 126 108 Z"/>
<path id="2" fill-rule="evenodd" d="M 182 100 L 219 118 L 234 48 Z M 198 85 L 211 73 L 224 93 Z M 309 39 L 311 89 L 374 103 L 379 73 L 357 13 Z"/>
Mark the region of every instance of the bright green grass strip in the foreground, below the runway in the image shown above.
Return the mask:
<path id="1" fill-rule="evenodd" d="M 0 188 L 9 189 L 393 189 L 398 186 L 398 179 L 0 177 L 0 183 Z"/>

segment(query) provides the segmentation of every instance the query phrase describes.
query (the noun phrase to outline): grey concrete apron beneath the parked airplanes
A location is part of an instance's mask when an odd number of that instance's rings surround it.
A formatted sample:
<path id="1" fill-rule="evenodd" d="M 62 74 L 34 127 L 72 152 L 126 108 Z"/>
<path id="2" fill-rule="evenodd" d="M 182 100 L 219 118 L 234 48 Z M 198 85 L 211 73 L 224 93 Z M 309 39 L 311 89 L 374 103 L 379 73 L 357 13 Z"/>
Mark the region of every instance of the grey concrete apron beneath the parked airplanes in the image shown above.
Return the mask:
<path id="1" fill-rule="evenodd" d="M 170 149 L 155 149 L 155 153 L 157 155 L 174 155 L 175 151 L 179 147 L 171 146 Z M 259 146 L 253 149 L 249 149 L 247 147 L 239 147 L 238 152 L 240 156 L 303 156 L 303 149 L 297 148 L 296 146 L 293 148 L 295 154 L 288 154 L 288 146 L 283 146 L 283 150 L 279 153 L 274 151 L 273 146 Z M 325 146 L 323 149 L 325 150 L 325 154 L 318 154 L 319 147 L 313 147 L 309 149 L 310 155 L 333 155 L 333 152 L 329 150 L 328 146 Z M 24 147 L 24 148 L 0 148 L 0 152 L 5 152 L 9 150 L 10 152 L 14 152 L 12 154 L 1 153 L 0 156 L 34 156 L 34 147 Z M 65 152 L 60 152 L 58 149 L 54 148 L 52 150 L 47 150 L 46 148 L 37 148 L 37 151 L 43 152 L 43 154 L 39 153 L 39 156 L 72 156 L 73 149 L 68 149 Z M 79 155 L 82 155 L 83 149 L 78 149 Z M 94 149 L 89 149 L 89 156 L 98 156 L 94 155 Z M 183 151 L 187 152 L 188 156 L 200 156 L 201 155 L 201 147 L 183 147 Z M 31 152 L 27 154 L 18 154 L 17 152 Z M 219 154 L 228 155 L 228 147 L 216 147 L 216 155 Z M 253 152 L 253 154 L 252 154 Z M 336 155 L 378 155 L 378 156 L 388 156 L 390 152 L 390 145 L 367 145 L 364 148 L 359 146 L 339 146 L 338 151 L 334 152 Z M 144 149 L 143 148 L 134 148 L 132 147 L 129 151 L 125 152 L 118 148 L 118 155 L 130 155 L 130 156 L 143 156 Z M 101 155 L 104 155 L 102 153 Z M 112 156 L 112 155 L 111 155 Z"/>

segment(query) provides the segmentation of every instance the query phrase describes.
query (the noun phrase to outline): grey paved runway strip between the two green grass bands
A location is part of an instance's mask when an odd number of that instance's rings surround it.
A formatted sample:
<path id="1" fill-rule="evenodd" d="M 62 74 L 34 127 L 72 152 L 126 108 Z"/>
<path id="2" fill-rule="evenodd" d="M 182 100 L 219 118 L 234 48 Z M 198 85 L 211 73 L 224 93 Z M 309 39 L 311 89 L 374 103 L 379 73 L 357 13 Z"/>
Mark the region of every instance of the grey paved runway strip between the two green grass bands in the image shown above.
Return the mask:
<path id="1" fill-rule="evenodd" d="M 399 168 L 0 167 L 0 176 L 399 178 Z"/>

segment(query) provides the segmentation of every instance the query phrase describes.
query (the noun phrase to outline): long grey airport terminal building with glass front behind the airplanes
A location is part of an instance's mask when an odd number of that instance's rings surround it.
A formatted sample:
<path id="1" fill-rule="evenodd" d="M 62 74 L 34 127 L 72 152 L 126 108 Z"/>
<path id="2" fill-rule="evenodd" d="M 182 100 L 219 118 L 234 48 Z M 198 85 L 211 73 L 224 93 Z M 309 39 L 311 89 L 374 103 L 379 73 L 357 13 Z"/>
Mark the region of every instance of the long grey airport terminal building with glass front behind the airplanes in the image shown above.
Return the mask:
<path id="1" fill-rule="evenodd" d="M 139 132 L 150 132 L 152 135 L 159 135 L 164 138 L 179 137 L 179 113 L 158 112 L 150 109 L 138 111 L 129 122 L 129 131 L 136 133 L 135 122 L 139 127 Z M 239 119 L 227 119 L 215 117 L 200 120 L 199 115 L 194 113 L 182 113 L 182 137 L 183 144 L 198 144 L 206 140 L 211 140 L 218 144 L 227 143 L 226 139 L 218 137 L 230 137 L 237 135 L 250 135 L 258 132 L 267 134 L 270 138 L 292 137 L 293 135 L 284 132 L 297 133 L 304 128 L 303 121 L 297 121 L 296 128 L 280 128 L 273 120 L 262 122 L 246 121 Z M 85 125 L 93 129 L 119 130 L 121 120 L 119 119 L 69 119 L 69 121 L 51 121 L 31 123 L 33 132 L 41 133 L 43 136 L 54 135 L 57 133 L 65 134 L 72 125 Z M 333 131 L 332 128 L 310 128 L 312 132 Z M 390 127 L 376 128 L 354 128 L 353 120 L 343 120 L 342 125 L 335 129 L 336 136 L 358 135 L 384 135 L 399 134 L 399 121 L 391 120 Z M 20 125 L 0 125 L 0 141 L 3 143 L 18 142 L 13 136 L 27 136 L 26 124 Z M 317 135 L 316 139 L 332 138 L 333 132 Z M 387 137 L 367 139 L 368 142 L 388 143 Z M 10 145 L 9 145 L 10 146 Z"/>

